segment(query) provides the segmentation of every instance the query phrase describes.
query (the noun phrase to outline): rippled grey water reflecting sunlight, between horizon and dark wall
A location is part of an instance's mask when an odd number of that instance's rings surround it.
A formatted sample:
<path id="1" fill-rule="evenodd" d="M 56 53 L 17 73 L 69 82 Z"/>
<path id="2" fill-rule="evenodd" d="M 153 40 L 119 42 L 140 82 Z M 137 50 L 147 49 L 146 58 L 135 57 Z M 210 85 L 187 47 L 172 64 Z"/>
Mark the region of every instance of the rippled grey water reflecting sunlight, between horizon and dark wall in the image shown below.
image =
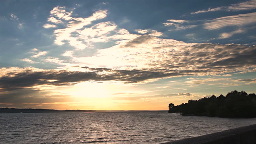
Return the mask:
<path id="1" fill-rule="evenodd" d="M 0 114 L 0 144 L 159 144 L 251 124 L 167 111 Z"/>

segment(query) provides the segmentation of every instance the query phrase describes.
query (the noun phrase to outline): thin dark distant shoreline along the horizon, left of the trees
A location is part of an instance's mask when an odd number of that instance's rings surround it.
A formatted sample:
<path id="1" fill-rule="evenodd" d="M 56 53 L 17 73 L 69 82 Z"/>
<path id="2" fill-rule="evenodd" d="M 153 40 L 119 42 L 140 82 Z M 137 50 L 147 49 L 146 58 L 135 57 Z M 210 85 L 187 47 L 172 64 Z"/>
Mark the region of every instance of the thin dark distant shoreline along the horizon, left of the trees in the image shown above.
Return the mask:
<path id="1" fill-rule="evenodd" d="M 135 111 L 168 111 L 168 110 L 57 110 L 43 108 L 0 108 L 0 113 L 65 113 L 65 112 L 135 112 Z"/>

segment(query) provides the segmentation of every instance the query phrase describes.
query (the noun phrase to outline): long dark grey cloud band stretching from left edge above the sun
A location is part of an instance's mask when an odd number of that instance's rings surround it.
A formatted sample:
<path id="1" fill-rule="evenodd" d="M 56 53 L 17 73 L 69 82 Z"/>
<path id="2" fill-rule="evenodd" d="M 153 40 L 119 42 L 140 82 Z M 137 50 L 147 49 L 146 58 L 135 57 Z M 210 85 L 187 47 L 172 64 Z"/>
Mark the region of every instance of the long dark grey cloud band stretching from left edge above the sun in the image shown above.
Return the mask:
<path id="1" fill-rule="evenodd" d="M 33 72 L 31 70 L 20 73 L 8 73 L 11 76 L 0 78 L 0 92 L 28 88 L 36 85 L 73 85 L 80 82 L 92 81 L 122 81 L 124 83 L 138 83 L 149 79 L 165 78 L 171 76 L 192 75 L 202 71 L 172 71 L 167 69 L 144 70 L 111 70 L 105 68 L 90 68 L 92 72 L 69 72 L 65 70 L 50 70 Z M 100 74 L 100 72 L 107 74 Z M 109 72 L 109 73 L 108 73 Z"/>

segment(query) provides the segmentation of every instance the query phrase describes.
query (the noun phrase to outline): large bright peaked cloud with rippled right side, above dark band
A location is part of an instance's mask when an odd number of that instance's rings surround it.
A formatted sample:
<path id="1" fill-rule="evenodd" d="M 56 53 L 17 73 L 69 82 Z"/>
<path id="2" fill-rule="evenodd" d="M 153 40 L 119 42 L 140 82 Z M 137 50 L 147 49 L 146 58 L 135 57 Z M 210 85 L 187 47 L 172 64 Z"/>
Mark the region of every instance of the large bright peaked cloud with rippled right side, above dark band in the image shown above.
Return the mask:
<path id="1" fill-rule="evenodd" d="M 238 71 L 248 72 L 255 68 L 256 65 L 253 62 L 247 61 L 247 59 L 254 59 L 255 47 L 184 43 L 143 35 L 130 41 L 123 41 L 111 48 L 100 49 L 95 56 L 74 58 L 74 60 L 96 68 L 152 69 L 154 71 L 165 69 L 166 72 L 219 75 Z"/>

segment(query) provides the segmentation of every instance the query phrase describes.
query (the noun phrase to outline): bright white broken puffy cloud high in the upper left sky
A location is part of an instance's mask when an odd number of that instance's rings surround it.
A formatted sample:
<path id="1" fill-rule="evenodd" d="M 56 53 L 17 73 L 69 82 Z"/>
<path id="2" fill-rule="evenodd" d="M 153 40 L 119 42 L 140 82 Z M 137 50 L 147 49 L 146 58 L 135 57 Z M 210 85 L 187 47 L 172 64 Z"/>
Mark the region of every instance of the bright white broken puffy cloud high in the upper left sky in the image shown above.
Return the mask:
<path id="1" fill-rule="evenodd" d="M 70 13 L 65 11 L 65 7 L 54 8 L 51 11 L 51 17 L 54 16 L 58 19 L 63 18 L 65 15 L 71 17 Z M 65 28 L 56 29 L 54 41 L 57 45 L 68 43 L 76 49 L 95 48 L 94 43 L 109 42 L 115 40 L 116 44 L 122 43 L 123 40 L 131 40 L 138 35 L 130 34 L 129 31 L 119 28 L 114 22 L 101 22 L 88 26 L 92 21 L 103 19 L 107 16 L 106 10 L 94 12 L 92 16 L 87 18 L 71 17 L 66 19 L 64 24 Z M 46 25 L 46 27 L 50 27 Z M 154 31 L 152 35 L 159 36 L 160 33 Z"/>

